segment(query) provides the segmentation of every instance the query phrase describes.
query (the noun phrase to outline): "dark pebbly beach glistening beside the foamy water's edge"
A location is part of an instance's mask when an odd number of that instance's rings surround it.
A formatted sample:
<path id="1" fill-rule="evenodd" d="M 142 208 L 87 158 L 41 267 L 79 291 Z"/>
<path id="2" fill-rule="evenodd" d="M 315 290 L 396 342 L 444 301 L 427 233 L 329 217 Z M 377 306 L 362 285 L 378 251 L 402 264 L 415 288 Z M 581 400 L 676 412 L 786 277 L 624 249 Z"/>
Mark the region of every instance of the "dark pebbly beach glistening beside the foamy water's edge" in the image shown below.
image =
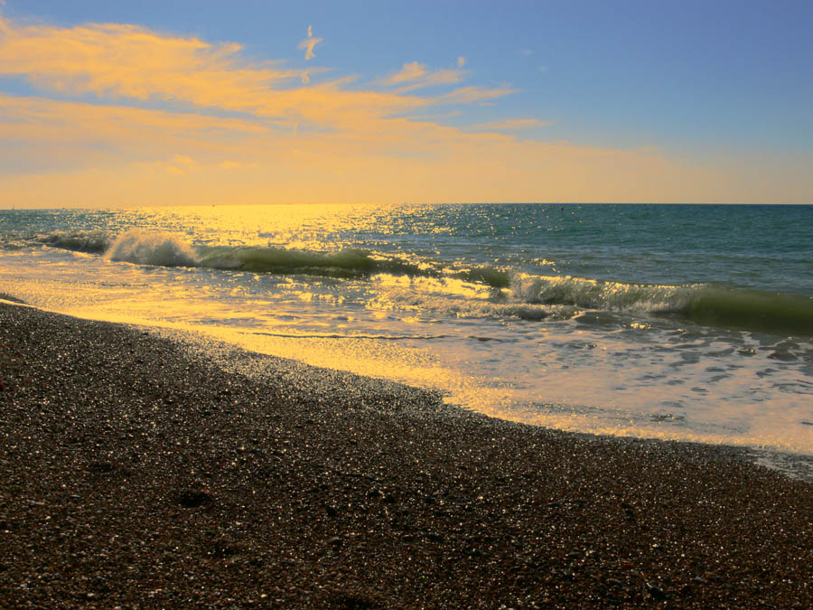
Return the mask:
<path id="1" fill-rule="evenodd" d="M 813 597 L 813 484 L 742 451 L 522 427 L 16 305 L 0 380 L 0 606 Z"/>

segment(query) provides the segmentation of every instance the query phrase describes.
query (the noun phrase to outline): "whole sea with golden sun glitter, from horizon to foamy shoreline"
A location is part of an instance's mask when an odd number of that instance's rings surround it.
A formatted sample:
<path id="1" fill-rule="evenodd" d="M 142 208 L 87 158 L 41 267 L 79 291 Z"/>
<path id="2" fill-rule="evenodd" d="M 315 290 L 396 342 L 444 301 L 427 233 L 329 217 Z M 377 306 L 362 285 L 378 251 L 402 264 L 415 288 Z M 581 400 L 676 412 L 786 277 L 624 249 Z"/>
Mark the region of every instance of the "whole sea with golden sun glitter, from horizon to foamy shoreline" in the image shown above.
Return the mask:
<path id="1" fill-rule="evenodd" d="M 813 206 L 0 211 L 0 292 L 596 435 L 813 455 Z"/>

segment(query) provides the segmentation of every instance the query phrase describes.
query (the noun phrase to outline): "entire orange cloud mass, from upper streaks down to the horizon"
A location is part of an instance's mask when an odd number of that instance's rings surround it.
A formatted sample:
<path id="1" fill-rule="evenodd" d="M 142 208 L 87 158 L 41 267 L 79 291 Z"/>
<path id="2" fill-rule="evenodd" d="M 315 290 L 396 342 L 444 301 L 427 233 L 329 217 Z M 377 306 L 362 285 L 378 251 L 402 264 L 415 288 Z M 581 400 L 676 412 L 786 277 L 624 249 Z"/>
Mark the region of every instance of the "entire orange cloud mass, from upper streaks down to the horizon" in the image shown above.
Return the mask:
<path id="1" fill-rule="evenodd" d="M 307 40 L 306 55 L 313 29 Z M 40 94 L 0 93 L 0 204 L 698 201 L 715 187 L 717 176 L 664 155 L 500 133 L 536 119 L 444 125 L 516 91 L 458 86 L 464 65 L 414 61 L 387 81 L 303 86 L 326 69 L 135 25 L 0 16 L 0 75 Z M 411 92 L 430 85 L 451 90 Z"/>

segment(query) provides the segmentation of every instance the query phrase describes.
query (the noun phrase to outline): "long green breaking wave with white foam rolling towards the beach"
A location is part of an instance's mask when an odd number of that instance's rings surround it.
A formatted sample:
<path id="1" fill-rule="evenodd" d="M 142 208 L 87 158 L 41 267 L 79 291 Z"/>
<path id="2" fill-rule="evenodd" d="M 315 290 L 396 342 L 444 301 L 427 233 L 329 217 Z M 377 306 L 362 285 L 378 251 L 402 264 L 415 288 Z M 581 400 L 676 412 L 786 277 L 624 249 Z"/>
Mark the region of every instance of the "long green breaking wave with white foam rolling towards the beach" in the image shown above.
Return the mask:
<path id="1" fill-rule="evenodd" d="M 163 267 L 206 267 L 269 274 L 364 278 L 379 274 L 456 278 L 489 286 L 489 300 L 425 296 L 397 289 L 390 305 L 453 316 L 567 318 L 585 310 L 669 315 L 714 326 L 777 334 L 813 335 L 813 297 L 760 290 L 691 285 L 650 285 L 589 277 L 530 276 L 497 267 L 463 267 L 435 260 L 407 260 L 367 249 L 324 253 L 250 246 L 192 246 L 166 233 L 129 230 L 110 240 L 101 232 L 52 233 L 54 248 L 104 254 L 110 260 Z"/>

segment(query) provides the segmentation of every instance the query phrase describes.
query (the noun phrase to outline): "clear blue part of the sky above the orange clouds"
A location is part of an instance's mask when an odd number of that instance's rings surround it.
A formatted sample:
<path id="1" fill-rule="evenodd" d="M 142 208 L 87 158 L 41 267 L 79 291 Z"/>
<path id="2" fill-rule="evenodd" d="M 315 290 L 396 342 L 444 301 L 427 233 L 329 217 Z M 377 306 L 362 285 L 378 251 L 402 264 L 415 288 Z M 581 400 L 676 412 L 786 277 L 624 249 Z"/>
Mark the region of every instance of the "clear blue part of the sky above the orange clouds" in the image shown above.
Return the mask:
<path id="1" fill-rule="evenodd" d="M 813 167 L 811 2 L 7 0 L 0 14 L 15 27 L 126 23 L 212 44 L 237 42 L 246 61 L 322 70 L 311 75 L 313 84 L 351 76 L 342 85 L 348 90 L 375 88 L 411 62 L 428 71 L 460 70 L 466 87 L 505 94 L 406 115 L 459 129 L 534 119 L 510 136 L 656 149 L 669 162 L 712 174 L 779 165 L 790 174 L 765 176 L 762 186 L 784 183 L 778 201 L 811 200 L 804 175 Z M 299 45 L 308 26 L 322 41 L 306 61 Z M 0 91 L 7 94 L 106 101 L 94 91 L 43 87 L 42 79 L 19 71 L 4 74 L 2 64 L 0 57 Z M 448 90 L 426 86 L 416 95 Z M 126 96 L 116 103 L 172 107 L 166 99 Z M 725 188 L 716 184 L 706 199 L 742 198 L 735 189 L 726 197 Z M 763 191 L 770 199 L 770 188 Z"/>

